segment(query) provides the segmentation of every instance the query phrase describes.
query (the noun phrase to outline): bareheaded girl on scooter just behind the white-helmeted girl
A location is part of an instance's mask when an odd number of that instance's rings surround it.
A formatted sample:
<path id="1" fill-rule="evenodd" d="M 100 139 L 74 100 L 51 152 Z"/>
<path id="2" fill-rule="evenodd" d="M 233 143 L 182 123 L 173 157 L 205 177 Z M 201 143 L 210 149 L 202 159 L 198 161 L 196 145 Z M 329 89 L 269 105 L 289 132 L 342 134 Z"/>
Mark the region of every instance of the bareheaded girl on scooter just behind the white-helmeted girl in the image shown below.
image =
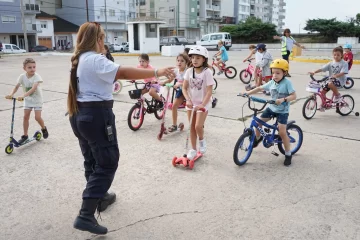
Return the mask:
<path id="1" fill-rule="evenodd" d="M 184 82 L 184 74 L 188 68 L 189 63 L 190 63 L 190 59 L 188 55 L 184 53 L 181 53 L 176 57 L 176 66 L 178 67 L 178 69 L 175 71 L 176 84 L 174 85 L 174 88 L 177 89 L 177 91 L 175 95 L 175 101 L 172 106 L 173 125 L 169 127 L 168 129 L 169 132 L 174 132 L 178 129 L 177 126 L 178 108 L 185 100 L 184 95 L 182 93 L 182 86 Z"/>

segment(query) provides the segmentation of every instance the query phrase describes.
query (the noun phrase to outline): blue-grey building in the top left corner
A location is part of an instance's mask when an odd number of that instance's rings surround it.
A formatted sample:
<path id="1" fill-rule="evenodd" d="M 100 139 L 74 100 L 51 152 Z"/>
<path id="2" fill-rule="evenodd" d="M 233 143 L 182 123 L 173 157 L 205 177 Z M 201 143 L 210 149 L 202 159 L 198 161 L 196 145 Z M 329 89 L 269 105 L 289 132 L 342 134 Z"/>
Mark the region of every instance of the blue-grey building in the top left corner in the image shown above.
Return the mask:
<path id="1" fill-rule="evenodd" d="M 37 44 L 37 33 L 41 26 L 36 23 L 36 14 L 40 13 L 40 6 L 35 0 L 24 0 L 20 6 L 20 0 L 0 0 L 0 41 L 12 43 L 25 49 L 25 41 L 22 27 L 21 8 L 24 10 L 25 28 L 29 48 Z"/>

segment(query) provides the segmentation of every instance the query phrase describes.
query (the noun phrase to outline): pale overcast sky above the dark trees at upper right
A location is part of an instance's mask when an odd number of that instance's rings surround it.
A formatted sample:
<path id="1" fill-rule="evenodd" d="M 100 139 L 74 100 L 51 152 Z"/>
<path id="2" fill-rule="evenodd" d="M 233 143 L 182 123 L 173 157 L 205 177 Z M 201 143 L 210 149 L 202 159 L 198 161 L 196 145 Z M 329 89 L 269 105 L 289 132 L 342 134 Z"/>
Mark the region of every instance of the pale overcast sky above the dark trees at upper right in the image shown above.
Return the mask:
<path id="1" fill-rule="evenodd" d="M 360 13 L 360 0 L 286 0 L 285 27 L 293 33 L 303 30 L 307 19 L 334 18 L 345 20 Z"/>

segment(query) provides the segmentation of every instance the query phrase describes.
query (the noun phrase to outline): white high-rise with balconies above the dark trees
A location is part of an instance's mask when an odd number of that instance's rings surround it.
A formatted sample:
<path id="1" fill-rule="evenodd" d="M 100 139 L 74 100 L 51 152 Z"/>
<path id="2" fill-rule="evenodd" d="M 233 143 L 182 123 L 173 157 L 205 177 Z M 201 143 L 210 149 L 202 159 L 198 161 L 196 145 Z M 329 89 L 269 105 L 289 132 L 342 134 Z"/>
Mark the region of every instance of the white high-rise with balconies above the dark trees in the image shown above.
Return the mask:
<path id="1" fill-rule="evenodd" d="M 271 22 L 281 31 L 284 27 L 285 0 L 236 0 L 238 21 L 245 21 L 249 16 L 260 18 L 264 22 Z"/>

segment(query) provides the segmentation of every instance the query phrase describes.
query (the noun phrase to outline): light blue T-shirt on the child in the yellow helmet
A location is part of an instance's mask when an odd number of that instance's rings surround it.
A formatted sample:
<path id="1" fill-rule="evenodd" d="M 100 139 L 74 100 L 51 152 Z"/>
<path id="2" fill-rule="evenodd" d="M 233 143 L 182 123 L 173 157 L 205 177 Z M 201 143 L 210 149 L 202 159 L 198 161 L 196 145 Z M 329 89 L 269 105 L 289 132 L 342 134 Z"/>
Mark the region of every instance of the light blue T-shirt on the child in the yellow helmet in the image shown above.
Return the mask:
<path id="1" fill-rule="evenodd" d="M 290 80 L 284 78 L 280 83 L 276 83 L 274 80 L 269 81 L 268 83 L 264 84 L 262 88 L 265 91 L 269 91 L 271 95 L 271 99 L 276 101 L 279 98 L 285 98 L 295 92 L 295 89 Z M 269 108 L 271 111 L 275 113 L 289 113 L 290 103 L 287 102 L 286 104 L 271 104 Z"/>

